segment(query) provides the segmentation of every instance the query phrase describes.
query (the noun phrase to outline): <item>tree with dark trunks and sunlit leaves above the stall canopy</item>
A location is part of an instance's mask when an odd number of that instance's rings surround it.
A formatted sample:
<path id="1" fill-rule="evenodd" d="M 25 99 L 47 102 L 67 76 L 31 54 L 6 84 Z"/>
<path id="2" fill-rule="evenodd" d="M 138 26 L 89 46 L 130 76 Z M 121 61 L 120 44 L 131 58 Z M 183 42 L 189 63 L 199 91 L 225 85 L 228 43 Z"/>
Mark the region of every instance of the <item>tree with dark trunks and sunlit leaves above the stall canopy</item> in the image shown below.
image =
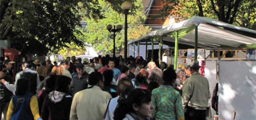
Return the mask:
<path id="1" fill-rule="evenodd" d="M 165 3 L 165 6 L 159 11 L 159 16 L 161 17 L 169 16 L 170 13 L 171 15 L 179 16 L 181 18 L 190 18 L 197 15 L 218 19 L 229 24 L 236 24 L 246 28 L 255 29 L 255 0 L 162 1 Z"/>

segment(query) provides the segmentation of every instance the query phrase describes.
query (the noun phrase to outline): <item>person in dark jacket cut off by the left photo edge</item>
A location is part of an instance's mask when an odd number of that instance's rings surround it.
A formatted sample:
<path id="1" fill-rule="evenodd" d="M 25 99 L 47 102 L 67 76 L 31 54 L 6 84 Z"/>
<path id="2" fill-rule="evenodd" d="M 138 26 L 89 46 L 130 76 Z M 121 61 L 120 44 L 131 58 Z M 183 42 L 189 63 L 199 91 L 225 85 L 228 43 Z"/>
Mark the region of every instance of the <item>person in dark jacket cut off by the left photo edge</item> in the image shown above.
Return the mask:
<path id="1" fill-rule="evenodd" d="M 0 66 L 0 115 L 4 114 L 6 120 L 7 109 L 12 98 L 12 91 L 5 84 L 13 84 L 12 78 L 6 76 L 7 70 L 5 66 Z"/>

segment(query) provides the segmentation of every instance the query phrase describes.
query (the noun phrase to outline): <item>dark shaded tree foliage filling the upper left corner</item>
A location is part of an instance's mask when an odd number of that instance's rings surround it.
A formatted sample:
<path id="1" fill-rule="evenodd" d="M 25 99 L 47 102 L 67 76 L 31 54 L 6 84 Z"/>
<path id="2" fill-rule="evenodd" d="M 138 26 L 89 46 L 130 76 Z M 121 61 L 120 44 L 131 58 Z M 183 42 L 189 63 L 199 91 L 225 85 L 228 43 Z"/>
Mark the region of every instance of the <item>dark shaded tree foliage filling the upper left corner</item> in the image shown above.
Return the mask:
<path id="1" fill-rule="evenodd" d="M 74 33 L 80 25 L 76 16 L 81 0 L 0 0 L 0 40 L 22 53 L 47 54 L 65 43 L 81 46 Z M 84 0 L 85 16 L 102 18 L 97 0 Z M 91 12 L 92 11 L 92 12 Z"/>

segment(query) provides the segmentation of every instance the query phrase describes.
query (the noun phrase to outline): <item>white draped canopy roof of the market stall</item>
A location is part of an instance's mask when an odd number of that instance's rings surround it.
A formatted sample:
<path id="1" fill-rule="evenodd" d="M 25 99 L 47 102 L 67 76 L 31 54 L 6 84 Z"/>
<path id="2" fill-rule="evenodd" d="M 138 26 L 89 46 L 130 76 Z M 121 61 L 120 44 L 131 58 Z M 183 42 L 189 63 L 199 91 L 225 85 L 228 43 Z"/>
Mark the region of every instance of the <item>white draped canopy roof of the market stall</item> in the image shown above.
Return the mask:
<path id="1" fill-rule="evenodd" d="M 175 31 L 178 31 L 178 43 L 188 48 L 194 46 L 195 28 L 198 26 L 198 47 L 241 47 L 256 44 L 256 31 L 228 23 L 220 22 L 207 17 L 194 16 L 190 19 L 166 26 L 163 29 L 151 31 L 150 33 L 128 42 L 128 44 L 151 41 L 159 41 L 163 37 L 163 43 L 173 45 L 175 42 Z"/>

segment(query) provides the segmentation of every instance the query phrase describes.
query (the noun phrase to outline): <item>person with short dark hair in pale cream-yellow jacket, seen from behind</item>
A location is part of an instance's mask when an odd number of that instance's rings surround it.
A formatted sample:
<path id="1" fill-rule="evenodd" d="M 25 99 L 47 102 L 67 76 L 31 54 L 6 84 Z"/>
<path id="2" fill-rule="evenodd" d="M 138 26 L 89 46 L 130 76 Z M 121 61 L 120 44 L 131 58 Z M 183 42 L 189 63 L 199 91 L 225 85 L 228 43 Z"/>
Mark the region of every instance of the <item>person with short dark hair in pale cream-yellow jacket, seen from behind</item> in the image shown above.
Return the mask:
<path id="1" fill-rule="evenodd" d="M 102 120 L 107 102 L 111 97 L 108 92 L 102 91 L 104 79 L 101 73 L 92 72 L 88 83 L 91 85 L 85 90 L 75 94 L 70 120 Z"/>

